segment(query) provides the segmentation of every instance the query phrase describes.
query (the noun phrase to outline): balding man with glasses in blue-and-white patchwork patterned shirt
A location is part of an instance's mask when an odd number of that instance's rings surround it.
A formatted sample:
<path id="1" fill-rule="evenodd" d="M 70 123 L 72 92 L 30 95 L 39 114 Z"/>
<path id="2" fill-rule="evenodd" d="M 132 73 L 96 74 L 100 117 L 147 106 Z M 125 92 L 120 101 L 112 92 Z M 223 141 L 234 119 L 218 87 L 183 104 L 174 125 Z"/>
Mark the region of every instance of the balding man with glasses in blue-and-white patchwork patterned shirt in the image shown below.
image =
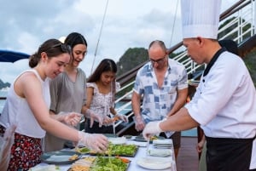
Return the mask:
<path id="1" fill-rule="evenodd" d="M 159 40 L 150 43 L 148 55 L 150 61 L 137 72 L 131 98 L 137 131 L 142 131 L 150 121 L 172 116 L 183 107 L 188 95 L 187 71 L 182 64 L 168 58 L 165 43 Z M 177 158 L 181 132 L 160 136 L 172 139 Z"/>

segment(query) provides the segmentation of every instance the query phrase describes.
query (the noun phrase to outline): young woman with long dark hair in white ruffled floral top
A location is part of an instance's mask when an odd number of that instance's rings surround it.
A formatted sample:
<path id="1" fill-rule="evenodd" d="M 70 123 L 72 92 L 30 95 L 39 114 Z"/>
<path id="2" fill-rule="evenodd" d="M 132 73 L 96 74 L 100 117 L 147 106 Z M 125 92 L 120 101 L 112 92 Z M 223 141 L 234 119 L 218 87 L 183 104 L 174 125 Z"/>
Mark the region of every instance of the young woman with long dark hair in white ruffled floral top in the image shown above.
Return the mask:
<path id="1" fill-rule="evenodd" d="M 118 115 L 114 110 L 114 94 L 120 88 L 119 83 L 115 82 L 117 66 L 113 60 L 104 59 L 87 81 L 86 107 L 90 112 L 95 113 L 103 120 L 103 126 L 99 127 L 98 121 L 90 127 L 90 120 L 85 124 L 88 133 L 113 134 L 113 126 L 110 125 L 115 119 L 127 122 L 127 117 Z"/>

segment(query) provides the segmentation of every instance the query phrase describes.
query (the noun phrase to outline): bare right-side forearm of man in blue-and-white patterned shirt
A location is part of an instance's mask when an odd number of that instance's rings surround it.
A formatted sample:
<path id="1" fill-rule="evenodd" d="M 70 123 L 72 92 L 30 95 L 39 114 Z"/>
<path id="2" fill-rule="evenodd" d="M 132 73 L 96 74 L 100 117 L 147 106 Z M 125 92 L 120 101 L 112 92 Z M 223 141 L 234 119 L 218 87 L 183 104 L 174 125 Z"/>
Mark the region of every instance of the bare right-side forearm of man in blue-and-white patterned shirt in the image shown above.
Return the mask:
<path id="1" fill-rule="evenodd" d="M 168 113 L 167 117 L 174 115 L 178 110 L 180 110 L 183 107 L 183 105 L 185 105 L 188 92 L 188 88 L 177 90 L 177 100 L 175 101 L 172 110 Z"/>

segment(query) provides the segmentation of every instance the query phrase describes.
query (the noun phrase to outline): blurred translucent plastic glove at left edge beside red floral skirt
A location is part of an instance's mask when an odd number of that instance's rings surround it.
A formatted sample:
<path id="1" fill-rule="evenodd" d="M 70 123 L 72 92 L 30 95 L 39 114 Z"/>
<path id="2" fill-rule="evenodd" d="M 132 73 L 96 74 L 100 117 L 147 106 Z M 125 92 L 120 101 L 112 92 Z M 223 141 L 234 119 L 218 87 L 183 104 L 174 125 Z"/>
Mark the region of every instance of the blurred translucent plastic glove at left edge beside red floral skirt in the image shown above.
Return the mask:
<path id="1" fill-rule="evenodd" d="M 3 137 L 0 137 L 0 170 L 7 170 L 9 166 L 11 147 L 15 142 L 15 129 L 15 125 L 6 128 Z"/>

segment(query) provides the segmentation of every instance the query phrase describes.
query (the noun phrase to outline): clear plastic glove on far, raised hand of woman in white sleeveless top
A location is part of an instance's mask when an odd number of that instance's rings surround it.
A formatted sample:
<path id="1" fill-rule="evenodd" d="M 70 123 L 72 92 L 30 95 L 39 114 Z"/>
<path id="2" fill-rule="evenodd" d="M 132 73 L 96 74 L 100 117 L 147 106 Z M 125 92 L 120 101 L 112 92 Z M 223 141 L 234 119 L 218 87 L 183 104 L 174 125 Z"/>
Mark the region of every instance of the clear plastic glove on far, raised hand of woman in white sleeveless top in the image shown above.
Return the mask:
<path id="1" fill-rule="evenodd" d="M 80 123 L 81 118 L 83 117 L 82 114 L 77 112 L 63 112 L 61 111 L 59 114 L 60 116 L 59 120 L 63 123 L 67 123 L 71 126 L 76 126 Z"/>

